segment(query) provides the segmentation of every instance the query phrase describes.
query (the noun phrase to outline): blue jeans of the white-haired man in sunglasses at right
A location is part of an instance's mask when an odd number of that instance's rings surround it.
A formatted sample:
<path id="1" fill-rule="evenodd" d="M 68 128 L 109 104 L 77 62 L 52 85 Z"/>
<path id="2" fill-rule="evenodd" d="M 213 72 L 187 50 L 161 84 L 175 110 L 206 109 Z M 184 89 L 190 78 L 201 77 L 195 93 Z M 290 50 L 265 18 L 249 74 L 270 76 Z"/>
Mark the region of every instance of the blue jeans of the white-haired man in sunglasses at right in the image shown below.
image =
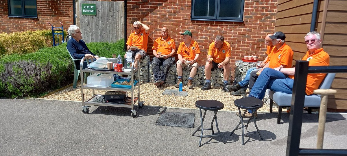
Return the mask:
<path id="1" fill-rule="evenodd" d="M 249 95 L 263 99 L 266 89 L 274 92 L 293 93 L 294 79 L 288 78 L 287 75 L 274 70 L 265 68 L 257 78 Z"/>

